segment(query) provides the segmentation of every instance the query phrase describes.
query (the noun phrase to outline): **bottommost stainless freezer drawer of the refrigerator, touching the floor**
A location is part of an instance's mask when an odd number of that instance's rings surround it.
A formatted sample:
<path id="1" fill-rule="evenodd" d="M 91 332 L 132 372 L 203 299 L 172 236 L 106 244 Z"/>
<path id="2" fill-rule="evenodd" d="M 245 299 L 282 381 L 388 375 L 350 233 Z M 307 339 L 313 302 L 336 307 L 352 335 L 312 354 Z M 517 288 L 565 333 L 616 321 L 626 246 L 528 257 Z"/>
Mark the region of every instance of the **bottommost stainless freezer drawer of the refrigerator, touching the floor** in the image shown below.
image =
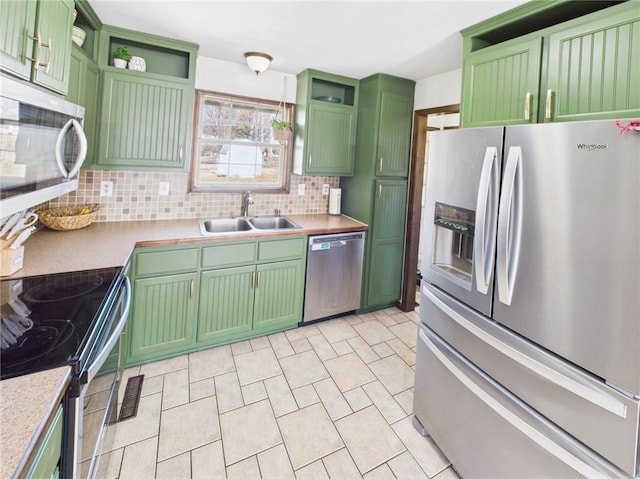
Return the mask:
<path id="1" fill-rule="evenodd" d="M 465 478 L 628 478 L 476 368 L 424 325 L 414 412 Z"/>

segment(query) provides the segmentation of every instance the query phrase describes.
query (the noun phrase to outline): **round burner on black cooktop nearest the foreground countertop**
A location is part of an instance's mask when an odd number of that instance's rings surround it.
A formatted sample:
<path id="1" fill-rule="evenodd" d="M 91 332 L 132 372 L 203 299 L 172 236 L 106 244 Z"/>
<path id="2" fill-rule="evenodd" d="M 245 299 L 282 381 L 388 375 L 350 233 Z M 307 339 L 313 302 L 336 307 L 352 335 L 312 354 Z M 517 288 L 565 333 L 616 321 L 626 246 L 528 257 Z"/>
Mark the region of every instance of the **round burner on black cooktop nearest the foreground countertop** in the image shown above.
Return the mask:
<path id="1" fill-rule="evenodd" d="M 15 368 L 34 361 L 63 346 L 73 334 L 73 324 L 62 319 L 47 319 L 34 325 L 15 344 L 3 348 L 2 367 Z"/>

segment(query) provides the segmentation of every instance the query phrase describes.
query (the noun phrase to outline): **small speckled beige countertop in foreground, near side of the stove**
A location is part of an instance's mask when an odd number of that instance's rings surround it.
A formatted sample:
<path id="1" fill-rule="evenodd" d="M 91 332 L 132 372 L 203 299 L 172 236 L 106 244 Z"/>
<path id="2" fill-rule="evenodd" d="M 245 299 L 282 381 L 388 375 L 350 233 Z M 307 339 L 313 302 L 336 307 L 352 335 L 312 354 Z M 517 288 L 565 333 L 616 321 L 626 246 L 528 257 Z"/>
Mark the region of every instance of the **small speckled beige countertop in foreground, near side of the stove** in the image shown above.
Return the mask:
<path id="1" fill-rule="evenodd" d="M 0 477 L 20 475 L 58 409 L 71 368 L 0 381 Z"/>

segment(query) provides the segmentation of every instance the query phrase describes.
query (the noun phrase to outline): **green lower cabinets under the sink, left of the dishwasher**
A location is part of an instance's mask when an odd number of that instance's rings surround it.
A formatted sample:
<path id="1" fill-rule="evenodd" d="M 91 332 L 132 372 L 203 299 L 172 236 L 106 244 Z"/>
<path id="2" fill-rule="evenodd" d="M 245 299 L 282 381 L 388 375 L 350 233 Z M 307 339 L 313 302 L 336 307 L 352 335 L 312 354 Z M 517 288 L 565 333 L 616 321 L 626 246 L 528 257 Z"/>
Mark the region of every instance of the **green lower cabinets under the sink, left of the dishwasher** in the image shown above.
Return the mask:
<path id="1" fill-rule="evenodd" d="M 295 328 L 306 236 L 139 248 L 126 364 Z"/>

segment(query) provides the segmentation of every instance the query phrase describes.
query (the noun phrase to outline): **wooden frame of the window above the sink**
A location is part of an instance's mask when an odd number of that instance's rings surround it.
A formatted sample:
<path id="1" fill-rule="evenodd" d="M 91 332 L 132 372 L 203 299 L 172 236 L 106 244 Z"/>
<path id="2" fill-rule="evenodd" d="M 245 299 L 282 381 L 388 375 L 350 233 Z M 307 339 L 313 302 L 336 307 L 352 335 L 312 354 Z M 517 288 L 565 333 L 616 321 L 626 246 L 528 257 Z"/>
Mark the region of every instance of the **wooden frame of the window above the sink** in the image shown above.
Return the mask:
<path id="1" fill-rule="evenodd" d="M 216 99 L 239 100 L 259 105 L 271 105 L 282 108 L 282 119 L 294 123 L 295 104 L 287 102 L 279 102 L 275 100 L 267 100 L 264 98 L 248 97 L 242 95 L 234 95 L 230 93 L 222 93 L 210 90 L 195 90 L 195 107 L 193 114 L 193 142 L 192 142 L 192 158 L 191 170 L 189 172 L 189 193 L 241 193 L 250 189 L 255 193 L 289 193 L 291 183 L 291 168 L 293 161 L 293 136 L 289 141 L 282 145 L 280 168 L 282 180 L 279 186 L 269 188 L 260 187 L 258 183 L 251 184 L 220 184 L 203 187 L 196 186 L 196 169 L 198 168 L 198 157 L 200 155 L 200 131 L 201 131 L 201 108 L 207 97 Z"/>

